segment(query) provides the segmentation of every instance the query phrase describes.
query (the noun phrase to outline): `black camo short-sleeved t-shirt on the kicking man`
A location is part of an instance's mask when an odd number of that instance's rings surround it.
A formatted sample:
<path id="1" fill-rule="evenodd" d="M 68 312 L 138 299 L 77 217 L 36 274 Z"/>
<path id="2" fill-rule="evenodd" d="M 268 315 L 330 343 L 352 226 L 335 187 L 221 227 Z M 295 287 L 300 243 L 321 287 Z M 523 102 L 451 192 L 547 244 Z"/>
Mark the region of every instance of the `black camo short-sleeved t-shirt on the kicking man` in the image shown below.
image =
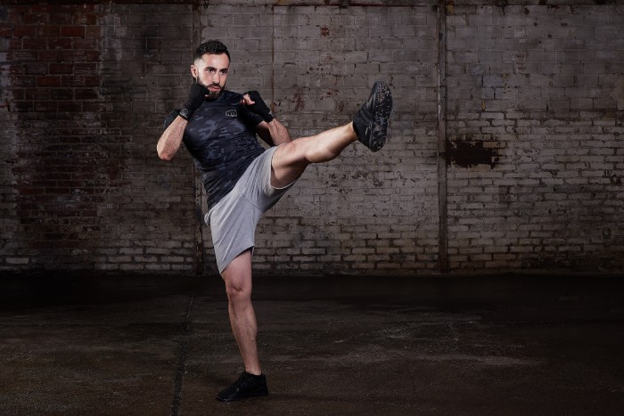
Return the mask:
<path id="1" fill-rule="evenodd" d="M 185 129 L 182 141 L 201 172 L 208 208 L 232 191 L 251 161 L 264 151 L 254 129 L 262 118 L 241 100 L 242 94 L 224 91 L 217 100 L 203 102 Z M 165 120 L 165 128 L 176 117 L 174 110 Z"/>

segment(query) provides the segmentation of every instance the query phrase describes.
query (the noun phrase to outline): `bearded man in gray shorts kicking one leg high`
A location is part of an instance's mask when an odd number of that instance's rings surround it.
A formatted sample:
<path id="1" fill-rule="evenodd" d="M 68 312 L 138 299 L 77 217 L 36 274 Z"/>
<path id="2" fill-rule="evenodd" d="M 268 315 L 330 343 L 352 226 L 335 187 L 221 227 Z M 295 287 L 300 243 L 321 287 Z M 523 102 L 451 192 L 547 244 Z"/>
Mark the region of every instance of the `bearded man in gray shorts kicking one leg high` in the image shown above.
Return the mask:
<path id="1" fill-rule="evenodd" d="M 169 114 L 157 145 L 160 159 L 170 160 L 185 143 L 206 188 L 209 212 L 205 221 L 245 365 L 239 379 L 218 394 L 217 399 L 225 402 L 268 395 L 251 304 L 251 255 L 260 217 L 309 164 L 332 160 L 357 140 L 379 151 L 386 141 L 392 108 L 389 87 L 378 82 L 353 122 L 291 140 L 257 92 L 226 90 L 229 67 L 230 54 L 221 42 L 213 40 L 197 48 L 191 65 L 195 83 L 184 107 Z M 272 147 L 265 151 L 256 135 Z"/>

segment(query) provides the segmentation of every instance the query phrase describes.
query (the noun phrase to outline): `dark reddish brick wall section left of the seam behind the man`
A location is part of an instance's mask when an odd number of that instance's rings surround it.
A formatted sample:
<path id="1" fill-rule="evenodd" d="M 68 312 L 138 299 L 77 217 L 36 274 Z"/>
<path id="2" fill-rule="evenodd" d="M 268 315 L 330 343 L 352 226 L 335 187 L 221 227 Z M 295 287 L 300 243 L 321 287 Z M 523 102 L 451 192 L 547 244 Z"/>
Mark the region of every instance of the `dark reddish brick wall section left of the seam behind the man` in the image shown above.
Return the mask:
<path id="1" fill-rule="evenodd" d="M 8 5 L 0 268 L 193 270 L 193 174 L 155 158 L 191 6 Z"/>

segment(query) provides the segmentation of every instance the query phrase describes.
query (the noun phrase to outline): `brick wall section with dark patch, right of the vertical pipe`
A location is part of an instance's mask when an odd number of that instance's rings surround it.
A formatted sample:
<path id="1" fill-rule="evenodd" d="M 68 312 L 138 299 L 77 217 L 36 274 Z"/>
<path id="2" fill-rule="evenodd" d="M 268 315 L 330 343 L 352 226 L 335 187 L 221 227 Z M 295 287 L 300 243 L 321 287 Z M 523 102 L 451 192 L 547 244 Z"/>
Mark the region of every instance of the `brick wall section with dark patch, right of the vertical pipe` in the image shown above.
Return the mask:
<path id="1" fill-rule="evenodd" d="M 624 8 L 462 3 L 447 14 L 450 269 L 621 270 Z"/>

